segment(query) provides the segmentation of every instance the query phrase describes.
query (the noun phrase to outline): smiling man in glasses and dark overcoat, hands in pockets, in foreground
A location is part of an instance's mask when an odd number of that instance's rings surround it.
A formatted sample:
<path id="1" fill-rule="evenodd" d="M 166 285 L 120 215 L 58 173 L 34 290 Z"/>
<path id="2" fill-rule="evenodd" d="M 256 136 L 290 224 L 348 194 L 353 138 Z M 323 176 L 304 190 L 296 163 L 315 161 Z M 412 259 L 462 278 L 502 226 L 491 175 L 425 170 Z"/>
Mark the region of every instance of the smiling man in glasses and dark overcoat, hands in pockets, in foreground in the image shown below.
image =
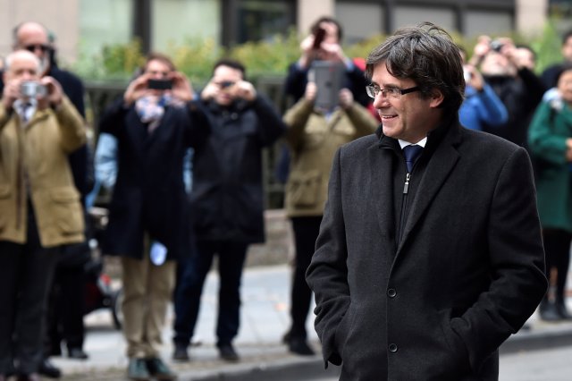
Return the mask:
<path id="1" fill-rule="evenodd" d="M 382 126 L 334 157 L 307 271 L 326 366 L 497 380 L 499 346 L 547 289 L 526 150 L 459 125 L 458 47 L 431 23 L 374 48 L 366 74 Z"/>

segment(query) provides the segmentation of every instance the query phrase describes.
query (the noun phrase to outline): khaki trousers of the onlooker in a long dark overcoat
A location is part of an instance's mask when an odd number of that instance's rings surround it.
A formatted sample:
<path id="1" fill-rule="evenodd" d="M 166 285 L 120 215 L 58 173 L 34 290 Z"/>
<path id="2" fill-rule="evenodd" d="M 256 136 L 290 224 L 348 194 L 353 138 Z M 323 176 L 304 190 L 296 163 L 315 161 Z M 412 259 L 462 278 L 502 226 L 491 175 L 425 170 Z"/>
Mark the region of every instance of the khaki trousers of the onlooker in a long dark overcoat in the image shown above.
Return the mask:
<path id="1" fill-rule="evenodd" d="M 147 250 L 146 250 L 147 251 Z M 129 358 L 159 357 L 161 332 L 175 283 L 176 262 L 161 266 L 143 259 L 122 258 L 123 334 Z"/>

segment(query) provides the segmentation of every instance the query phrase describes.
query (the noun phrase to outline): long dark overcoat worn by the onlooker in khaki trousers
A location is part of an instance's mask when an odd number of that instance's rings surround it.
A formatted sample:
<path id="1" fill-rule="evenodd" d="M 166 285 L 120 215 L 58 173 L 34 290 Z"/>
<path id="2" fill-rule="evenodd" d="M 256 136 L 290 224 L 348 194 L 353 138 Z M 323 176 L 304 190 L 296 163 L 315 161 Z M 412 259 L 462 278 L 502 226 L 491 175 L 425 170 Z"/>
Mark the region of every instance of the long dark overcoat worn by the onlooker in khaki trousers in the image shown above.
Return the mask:
<path id="1" fill-rule="evenodd" d="M 191 111 L 193 105 L 167 106 L 151 133 L 135 107 L 123 106 L 122 99 L 103 115 L 100 131 L 113 134 L 118 142 L 117 182 L 102 245 L 105 254 L 143 258 L 147 232 L 166 246 L 168 259 L 189 255 L 182 165 L 192 125 L 201 119 L 200 113 Z"/>

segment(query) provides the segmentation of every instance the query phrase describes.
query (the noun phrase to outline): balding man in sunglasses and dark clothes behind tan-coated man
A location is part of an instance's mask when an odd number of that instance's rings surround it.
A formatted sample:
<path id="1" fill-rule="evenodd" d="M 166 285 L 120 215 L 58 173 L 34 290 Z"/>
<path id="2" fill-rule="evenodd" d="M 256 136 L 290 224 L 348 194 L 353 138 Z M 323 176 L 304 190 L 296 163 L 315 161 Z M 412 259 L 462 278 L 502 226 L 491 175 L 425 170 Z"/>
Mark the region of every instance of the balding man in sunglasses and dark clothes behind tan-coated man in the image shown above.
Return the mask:
<path id="1" fill-rule="evenodd" d="M 85 118 L 84 88 L 81 80 L 71 72 L 64 71 L 55 61 L 55 41 L 44 25 L 35 21 L 24 21 L 13 28 L 13 50 L 25 49 L 38 57 L 41 63 L 40 76 L 55 78 L 62 86 L 63 93 L 71 100 L 80 115 Z M 91 169 L 88 167 L 88 147 L 77 149 L 70 157 L 71 172 L 76 188 L 80 191 L 82 204 L 91 186 Z M 47 357 L 61 355 L 64 341 L 67 354 L 72 359 L 85 360 L 88 354 L 83 351 L 85 328 L 84 287 L 85 273 L 82 271 L 88 260 L 87 241 L 62 248 L 62 256 L 55 269 L 54 284 L 48 302 L 45 360 L 40 374 L 46 377 L 60 377 L 61 371 Z M 58 307 L 56 307 L 58 306 Z"/>

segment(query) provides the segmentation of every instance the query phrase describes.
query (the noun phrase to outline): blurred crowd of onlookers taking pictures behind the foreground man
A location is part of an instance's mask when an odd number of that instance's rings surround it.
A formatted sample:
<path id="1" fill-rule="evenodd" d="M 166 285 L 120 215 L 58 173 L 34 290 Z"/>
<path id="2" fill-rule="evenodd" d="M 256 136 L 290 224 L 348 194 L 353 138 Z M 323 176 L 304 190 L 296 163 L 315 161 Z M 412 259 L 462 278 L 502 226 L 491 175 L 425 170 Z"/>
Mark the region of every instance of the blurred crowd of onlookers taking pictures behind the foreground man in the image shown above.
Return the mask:
<path id="1" fill-rule="evenodd" d="M 315 21 L 284 84 L 279 114 L 248 81 L 242 63 L 214 64 L 194 89 L 167 55 L 151 53 L 122 97 L 86 139 L 81 80 L 57 65 L 43 25 L 13 30 L 0 104 L 0 381 L 60 377 L 51 356 L 88 360 L 83 349 L 85 286 L 92 259 L 88 218 L 97 194 L 111 194 L 104 255 L 122 264 L 122 330 L 128 377 L 174 379 L 160 358 L 174 303 L 172 360 L 188 361 L 206 275 L 220 275 L 214 329 L 223 360 L 240 360 L 240 282 L 248 246 L 265 241 L 262 153 L 280 142 L 276 176 L 294 233 L 289 351 L 313 355 L 305 274 L 315 250 L 332 157 L 380 123 L 366 92 L 363 59 L 345 55 L 340 23 Z M 541 76 L 531 47 L 482 36 L 465 69 L 460 122 L 525 147 L 534 165 L 551 290 L 547 321 L 571 318 L 566 282 L 572 241 L 572 31 L 563 62 Z M 64 351 L 63 351 L 64 349 Z"/>

